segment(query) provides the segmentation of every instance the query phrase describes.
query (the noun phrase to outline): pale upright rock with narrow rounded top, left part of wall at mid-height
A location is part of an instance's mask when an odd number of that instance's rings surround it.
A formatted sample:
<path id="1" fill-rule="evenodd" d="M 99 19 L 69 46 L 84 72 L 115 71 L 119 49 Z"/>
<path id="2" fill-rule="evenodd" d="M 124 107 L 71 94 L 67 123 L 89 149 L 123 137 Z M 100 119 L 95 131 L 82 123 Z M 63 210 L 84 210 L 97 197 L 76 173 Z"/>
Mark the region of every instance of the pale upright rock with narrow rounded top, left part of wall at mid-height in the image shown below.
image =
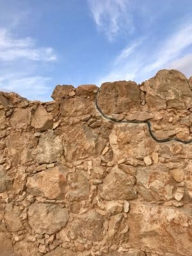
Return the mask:
<path id="1" fill-rule="evenodd" d="M 59 161 L 63 148 L 60 138 L 53 131 L 47 131 L 40 136 L 36 147 L 36 161 L 40 164 Z"/>

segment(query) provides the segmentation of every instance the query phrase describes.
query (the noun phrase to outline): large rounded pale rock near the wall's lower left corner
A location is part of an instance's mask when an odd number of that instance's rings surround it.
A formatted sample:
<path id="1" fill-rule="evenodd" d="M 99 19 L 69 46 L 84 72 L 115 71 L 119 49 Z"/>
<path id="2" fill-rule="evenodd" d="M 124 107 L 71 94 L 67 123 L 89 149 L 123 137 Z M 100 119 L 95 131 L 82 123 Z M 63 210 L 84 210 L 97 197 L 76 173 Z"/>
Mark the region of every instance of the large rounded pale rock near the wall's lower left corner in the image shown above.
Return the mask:
<path id="1" fill-rule="evenodd" d="M 33 203 L 28 212 L 29 225 L 38 234 L 53 234 L 65 227 L 68 211 L 54 204 Z"/>

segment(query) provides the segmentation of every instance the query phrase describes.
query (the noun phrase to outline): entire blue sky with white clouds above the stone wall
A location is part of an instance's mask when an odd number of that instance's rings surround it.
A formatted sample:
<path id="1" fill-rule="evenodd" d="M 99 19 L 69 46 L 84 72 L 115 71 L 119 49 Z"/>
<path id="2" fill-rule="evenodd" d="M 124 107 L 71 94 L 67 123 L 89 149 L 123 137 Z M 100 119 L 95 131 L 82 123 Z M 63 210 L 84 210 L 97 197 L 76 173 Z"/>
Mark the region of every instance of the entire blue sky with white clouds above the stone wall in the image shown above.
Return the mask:
<path id="1" fill-rule="evenodd" d="M 0 90 L 51 100 L 56 84 L 192 76 L 191 0 L 0 0 Z"/>

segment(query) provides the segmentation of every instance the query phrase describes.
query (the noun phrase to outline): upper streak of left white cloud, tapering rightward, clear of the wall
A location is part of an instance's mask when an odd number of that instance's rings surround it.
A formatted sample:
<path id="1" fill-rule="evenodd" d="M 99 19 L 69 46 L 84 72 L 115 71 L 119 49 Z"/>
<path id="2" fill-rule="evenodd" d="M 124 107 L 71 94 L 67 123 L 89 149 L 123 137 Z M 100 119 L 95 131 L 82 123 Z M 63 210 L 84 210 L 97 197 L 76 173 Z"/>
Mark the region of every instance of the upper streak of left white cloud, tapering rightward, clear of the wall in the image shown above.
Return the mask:
<path id="1" fill-rule="evenodd" d="M 7 29 L 0 28 L 0 61 L 15 61 L 20 58 L 54 61 L 56 54 L 51 47 L 37 47 L 32 38 L 15 38 Z"/>

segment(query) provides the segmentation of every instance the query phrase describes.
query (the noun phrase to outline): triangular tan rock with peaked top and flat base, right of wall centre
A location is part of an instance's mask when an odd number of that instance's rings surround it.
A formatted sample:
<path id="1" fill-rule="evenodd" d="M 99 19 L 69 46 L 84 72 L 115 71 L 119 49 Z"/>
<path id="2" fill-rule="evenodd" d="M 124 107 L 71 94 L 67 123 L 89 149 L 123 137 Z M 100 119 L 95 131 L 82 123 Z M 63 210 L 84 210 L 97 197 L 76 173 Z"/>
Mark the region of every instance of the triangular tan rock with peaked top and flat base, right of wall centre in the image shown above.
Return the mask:
<path id="1" fill-rule="evenodd" d="M 106 200 L 132 200 L 137 193 L 129 175 L 113 168 L 100 185 L 100 196 Z"/>

